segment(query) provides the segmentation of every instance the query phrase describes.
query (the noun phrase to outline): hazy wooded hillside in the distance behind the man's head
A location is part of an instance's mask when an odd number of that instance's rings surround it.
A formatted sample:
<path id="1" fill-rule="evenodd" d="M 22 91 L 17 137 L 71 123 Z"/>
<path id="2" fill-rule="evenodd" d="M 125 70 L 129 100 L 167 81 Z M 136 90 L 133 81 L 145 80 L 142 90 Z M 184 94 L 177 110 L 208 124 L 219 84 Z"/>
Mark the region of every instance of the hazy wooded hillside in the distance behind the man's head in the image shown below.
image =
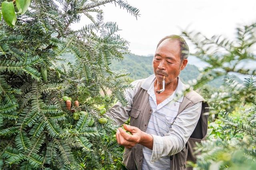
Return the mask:
<path id="1" fill-rule="evenodd" d="M 124 56 L 123 61 L 113 60 L 112 64 L 110 65 L 110 68 L 112 68 L 114 71 L 118 71 L 120 69 L 126 69 L 128 72 L 131 73 L 131 75 L 129 76 L 130 78 L 134 80 L 143 79 L 154 73 L 153 67 L 152 67 L 152 59 L 153 59 L 153 56 L 145 57 L 145 56 L 130 54 L 130 55 Z M 186 68 L 181 71 L 180 78 L 184 83 L 187 83 L 188 80 L 196 79 L 199 73 L 200 72 L 198 70 L 198 67 L 196 67 L 195 65 L 188 64 Z M 233 77 L 236 80 L 241 82 L 241 80 L 235 75 L 232 75 L 230 77 Z M 220 85 L 224 83 L 223 79 L 224 79 L 224 76 L 219 77 L 218 79 L 215 79 L 209 82 L 208 84 L 211 85 L 212 87 L 220 87 Z"/>

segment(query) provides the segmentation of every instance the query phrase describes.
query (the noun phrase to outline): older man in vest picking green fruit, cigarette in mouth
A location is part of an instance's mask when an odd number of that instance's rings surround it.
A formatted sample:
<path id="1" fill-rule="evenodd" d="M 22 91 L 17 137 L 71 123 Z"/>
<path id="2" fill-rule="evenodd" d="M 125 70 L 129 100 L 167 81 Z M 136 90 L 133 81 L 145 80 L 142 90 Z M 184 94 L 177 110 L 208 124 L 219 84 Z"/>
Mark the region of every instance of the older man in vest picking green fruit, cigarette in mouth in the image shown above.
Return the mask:
<path id="1" fill-rule="evenodd" d="M 118 103 L 106 113 L 119 126 L 130 118 L 124 128 L 132 134 L 122 128 L 116 132 L 128 169 L 183 170 L 186 160 L 195 160 L 188 139 L 194 139 L 193 145 L 206 136 L 208 116 L 202 114 L 207 103 L 198 93 L 183 93 L 185 85 L 178 76 L 188 53 L 180 36 L 160 40 L 152 62 L 154 75 L 132 83 L 134 88 L 126 90 L 126 107 Z"/>

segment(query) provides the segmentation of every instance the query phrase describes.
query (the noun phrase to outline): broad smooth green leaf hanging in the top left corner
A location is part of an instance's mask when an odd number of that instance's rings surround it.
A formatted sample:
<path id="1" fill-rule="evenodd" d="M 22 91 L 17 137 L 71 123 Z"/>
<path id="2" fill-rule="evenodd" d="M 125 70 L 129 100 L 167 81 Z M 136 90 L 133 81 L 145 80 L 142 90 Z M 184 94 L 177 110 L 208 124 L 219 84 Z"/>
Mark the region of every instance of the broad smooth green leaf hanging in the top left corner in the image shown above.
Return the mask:
<path id="1" fill-rule="evenodd" d="M 11 2 L 4 1 L 2 2 L 2 14 L 4 17 L 4 20 L 9 26 L 15 26 L 16 23 L 16 14 L 14 10 L 14 5 Z"/>

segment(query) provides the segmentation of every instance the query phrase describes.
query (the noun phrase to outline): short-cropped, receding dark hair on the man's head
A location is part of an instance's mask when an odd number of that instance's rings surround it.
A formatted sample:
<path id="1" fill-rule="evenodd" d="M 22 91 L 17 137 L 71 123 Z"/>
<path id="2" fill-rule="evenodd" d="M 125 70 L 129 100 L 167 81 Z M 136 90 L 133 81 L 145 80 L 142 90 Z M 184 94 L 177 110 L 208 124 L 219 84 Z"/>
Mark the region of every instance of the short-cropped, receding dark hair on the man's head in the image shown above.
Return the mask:
<path id="1" fill-rule="evenodd" d="M 188 55 L 189 55 L 188 44 L 186 43 L 184 38 L 182 38 L 181 36 L 177 36 L 177 35 L 166 36 L 166 37 L 162 38 L 162 40 L 160 40 L 160 42 L 157 44 L 156 48 L 158 48 L 160 43 L 162 43 L 166 39 L 178 40 L 178 42 L 180 43 L 180 60 L 183 60 L 184 58 L 188 58 Z"/>

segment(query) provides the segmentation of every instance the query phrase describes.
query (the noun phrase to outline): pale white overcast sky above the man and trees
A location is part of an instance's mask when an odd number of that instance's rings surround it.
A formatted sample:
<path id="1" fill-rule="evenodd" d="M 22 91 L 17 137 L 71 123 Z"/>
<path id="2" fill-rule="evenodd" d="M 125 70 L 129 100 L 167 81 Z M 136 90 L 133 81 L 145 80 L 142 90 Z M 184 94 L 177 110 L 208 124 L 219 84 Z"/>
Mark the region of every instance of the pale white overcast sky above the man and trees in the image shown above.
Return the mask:
<path id="1" fill-rule="evenodd" d="M 127 0 L 140 10 L 137 20 L 126 10 L 106 4 L 104 20 L 117 22 L 118 33 L 137 55 L 151 55 L 160 39 L 181 30 L 195 30 L 207 37 L 235 37 L 238 24 L 256 22 L 256 0 Z M 80 24 L 85 22 L 81 21 Z M 79 27 L 76 25 L 75 27 Z M 188 44 L 191 46 L 190 44 Z M 193 49 L 190 48 L 192 51 Z"/>

